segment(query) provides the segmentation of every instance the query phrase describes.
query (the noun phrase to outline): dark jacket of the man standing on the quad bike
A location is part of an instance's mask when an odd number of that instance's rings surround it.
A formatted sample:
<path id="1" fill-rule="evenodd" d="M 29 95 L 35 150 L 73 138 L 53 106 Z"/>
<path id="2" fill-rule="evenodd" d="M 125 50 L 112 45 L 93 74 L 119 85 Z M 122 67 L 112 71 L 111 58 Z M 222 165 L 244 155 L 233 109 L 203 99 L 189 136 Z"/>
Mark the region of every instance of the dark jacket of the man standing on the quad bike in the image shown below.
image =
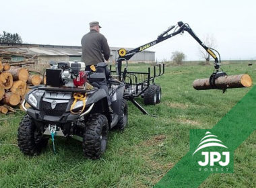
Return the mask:
<path id="1" fill-rule="evenodd" d="M 82 62 L 85 62 L 86 65 L 96 65 L 98 62 L 104 62 L 104 58 L 108 60 L 110 56 L 108 42 L 104 35 L 96 30 L 91 30 L 88 34 L 84 35 L 81 44 Z"/>

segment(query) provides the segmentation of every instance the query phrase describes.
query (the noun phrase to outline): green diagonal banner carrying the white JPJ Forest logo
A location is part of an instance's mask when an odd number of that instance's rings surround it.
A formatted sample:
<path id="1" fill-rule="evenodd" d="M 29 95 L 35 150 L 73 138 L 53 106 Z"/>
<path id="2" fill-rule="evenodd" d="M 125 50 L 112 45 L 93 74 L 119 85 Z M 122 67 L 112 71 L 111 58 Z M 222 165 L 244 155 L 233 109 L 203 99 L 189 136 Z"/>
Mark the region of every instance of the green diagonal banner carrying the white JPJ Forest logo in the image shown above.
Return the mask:
<path id="1" fill-rule="evenodd" d="M 212 173 L 233 173 L 234 150 L 256 129 L 256 86 L 211 130 L 191 130 L 190 150 L 155 187 L 198 187 Z"/>

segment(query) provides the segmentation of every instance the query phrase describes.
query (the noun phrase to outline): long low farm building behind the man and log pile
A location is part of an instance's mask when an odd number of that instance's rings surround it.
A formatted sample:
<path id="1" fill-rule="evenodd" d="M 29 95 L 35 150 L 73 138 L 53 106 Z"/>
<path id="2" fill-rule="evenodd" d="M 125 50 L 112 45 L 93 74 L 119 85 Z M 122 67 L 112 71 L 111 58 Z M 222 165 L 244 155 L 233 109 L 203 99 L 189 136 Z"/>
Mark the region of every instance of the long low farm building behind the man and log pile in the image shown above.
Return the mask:
<path id="1" fill-rule="evenodd" d="M 69 61 L 77 60 L 81 61 L 82 47 L 81 46 L 59 46 L 48 44 L 0 44 L 0 46 L 24 46 L 26 48 L 19 48 L 18 52 L 26 52 L 28 55 L 37 56 L 40 63 L 48 63 L 51 60 L 54 61 Z M 120 48 L 110 47 L 110 62 L 115 62 L 118 57 L 117 50 Z M 125 48 L 126 50 L 132 50 L 133 48 Z M 11 48 L 9 48 L 11 50 Z M 15 49 L 17 51 L 17 49 Z M 13 61 L 20 61 L 24 58 L 22 56 L 11 56 Z M 145 50 L 143 52 L 135 54 L 131 59 L 131 62 L 154 62 L 155 52 Z"/>

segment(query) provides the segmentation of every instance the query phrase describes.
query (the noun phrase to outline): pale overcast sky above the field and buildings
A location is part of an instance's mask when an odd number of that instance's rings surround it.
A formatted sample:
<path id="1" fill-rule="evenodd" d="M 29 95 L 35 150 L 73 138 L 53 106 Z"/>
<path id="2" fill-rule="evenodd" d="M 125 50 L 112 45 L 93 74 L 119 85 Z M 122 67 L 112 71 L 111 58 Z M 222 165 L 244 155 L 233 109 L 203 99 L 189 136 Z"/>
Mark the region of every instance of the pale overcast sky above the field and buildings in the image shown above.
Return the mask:
<path id="1" fill-rule="evenodd" d="M 100 33 L 111 47 L 137 48 L 155 40 L 178 21 L 189 23 L 203 40 L 216 40 L 222 60 L 256 59 L 255 0 L 60 1 L 1 2 L 0 33 L 18 33 L 24 43 L 81 46 L 89 22 L 99 21 Z M 199 44 L 187 33 L 148 50 L 156 59 L 170 60 L 172 52 L 199 60 Z"/>

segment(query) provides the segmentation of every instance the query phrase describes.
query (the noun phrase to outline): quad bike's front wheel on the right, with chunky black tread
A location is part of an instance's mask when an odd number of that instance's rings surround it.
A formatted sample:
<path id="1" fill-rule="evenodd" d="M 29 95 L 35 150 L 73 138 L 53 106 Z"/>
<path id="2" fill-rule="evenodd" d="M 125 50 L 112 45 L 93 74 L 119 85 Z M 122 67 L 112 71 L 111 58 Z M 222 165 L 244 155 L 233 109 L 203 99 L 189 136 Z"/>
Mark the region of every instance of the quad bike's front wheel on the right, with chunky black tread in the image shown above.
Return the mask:
<path id="1" fill-rule="evenodd" d="M 108 120 L 100 113 L 91 115 L 86 122 L 83 136 L 84 155 L 91 159 L 100 158 L 106 150 L 108 140 Z"/>

